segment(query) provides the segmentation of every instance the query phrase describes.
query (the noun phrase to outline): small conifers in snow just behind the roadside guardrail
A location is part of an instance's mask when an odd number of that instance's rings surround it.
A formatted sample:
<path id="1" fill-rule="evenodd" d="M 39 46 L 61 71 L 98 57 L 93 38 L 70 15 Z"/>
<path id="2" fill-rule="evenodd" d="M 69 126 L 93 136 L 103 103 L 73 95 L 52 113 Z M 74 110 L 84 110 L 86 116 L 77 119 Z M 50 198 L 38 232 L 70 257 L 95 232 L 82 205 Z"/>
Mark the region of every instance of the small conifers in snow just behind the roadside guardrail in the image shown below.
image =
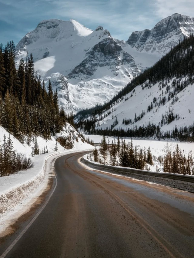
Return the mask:
<path id="1" fill-rule="evenodd" d="M 132 140 L 125 143 L 125 140 L 118 137 L 117 142 L 112 141 L 110 144 L 106 142 L 106 137 L 103 136 L 100 144 L 100 149 L 96 147 L 92 150 L 94 162 L 107 164 L 107 157 L 109 157 L 109 165 L 131 167 L 136 169 L 150 170 L 149 165 L 153 165 L 156 161 L 156 171 L 159 172 L 159 164 L 163 167 L 163 172 L 176 174 L 194 174 L 194 160 L 191 152 L 184 154 L 178 144 L 173 150 L 167 146 L 165 147 L 165 154 L 158 157 L 153 156 L 150 147 L 140 148 L 133 146 Z"/>

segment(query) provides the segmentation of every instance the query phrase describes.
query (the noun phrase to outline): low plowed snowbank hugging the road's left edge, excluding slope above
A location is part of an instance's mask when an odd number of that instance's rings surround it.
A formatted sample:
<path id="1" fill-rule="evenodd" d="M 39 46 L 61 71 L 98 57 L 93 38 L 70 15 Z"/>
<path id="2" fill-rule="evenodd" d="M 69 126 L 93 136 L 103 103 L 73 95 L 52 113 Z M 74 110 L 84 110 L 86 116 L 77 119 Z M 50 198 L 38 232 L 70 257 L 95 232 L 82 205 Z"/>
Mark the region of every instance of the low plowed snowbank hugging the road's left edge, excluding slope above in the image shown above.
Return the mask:
<path id="1" fill-rule="evenodd" d="M 34 167 L 17 174 L 0 177 L 0 233 L 25 213 L 47 187 L 54 175 L 54 162 L 64 154 L 89 150 L 85 144 L 73 150 L 47 153 L 35 157 Z"/>

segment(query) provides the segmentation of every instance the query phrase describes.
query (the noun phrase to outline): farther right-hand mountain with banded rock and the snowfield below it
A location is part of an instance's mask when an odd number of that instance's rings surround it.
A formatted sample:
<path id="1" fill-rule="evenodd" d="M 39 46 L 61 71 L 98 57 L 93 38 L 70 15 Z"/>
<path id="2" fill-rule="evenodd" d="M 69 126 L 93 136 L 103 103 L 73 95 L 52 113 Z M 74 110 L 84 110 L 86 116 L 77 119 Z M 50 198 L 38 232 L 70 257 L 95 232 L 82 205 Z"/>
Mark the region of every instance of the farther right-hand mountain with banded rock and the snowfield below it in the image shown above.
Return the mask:
<path id="1" fill-rule="evenodd" d="M 151 30 L 134 31 L 122 48 L 130 53 L 139 69 L 148 68 L 179 40 L 194 33 L 194 18 L 175 13 L 159 21 Z"/>

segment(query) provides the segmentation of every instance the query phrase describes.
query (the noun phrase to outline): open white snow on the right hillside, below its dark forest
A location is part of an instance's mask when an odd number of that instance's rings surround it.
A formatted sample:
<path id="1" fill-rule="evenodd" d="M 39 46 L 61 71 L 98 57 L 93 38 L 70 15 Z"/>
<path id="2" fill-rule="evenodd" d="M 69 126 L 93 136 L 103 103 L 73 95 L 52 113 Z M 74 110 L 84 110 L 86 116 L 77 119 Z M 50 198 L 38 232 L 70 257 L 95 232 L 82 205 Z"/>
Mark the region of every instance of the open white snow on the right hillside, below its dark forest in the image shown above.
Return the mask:
<path id="1" fill-rule="evenodd" d="M 138 85 L 133 91 L 126 94 L 118 103 L 115 103 L 110 108 L 109 113 L 102 114 L 105 116 L 102 121 L 96 122 L 99 128 L 111 127 L 117 120 L 117 128 L 131 128 L 133 126 L 147 126 L 150 124 L 156 124 L 160 126 L 160 131 L 172 130 L 175 125 L 177 128 L 182 126 L 189 126 L 194 122 L 194 85 L 188 85 L 182 91 L 180 91 L 175 98 L 169 98 L 169 91 L 172 88 L 172 81 L 167 82 L 166 87 L 161 88 L 159 83 L 154 84 L 152 87 L 145 87 L 142 89 L 142 85 Z M 182 79 L 184 81 L 184 78 Z M 169 89 L 168 89 L 169 88 Z M 162 99 L 166 99 L 165 103 Z M 152 104 L 151 104 L 152 102 Z M 160 105 L 157 105 L 161 103 Z M 149 111 L 149 107 L 152 108 Z M 165 120 L 165 115 L 168 116 L 172 111 L 175 118 L 174 121 L 169 124 Z M 144 113 L 142 118 L 141 114 Z M 161 124 L 162 115 L 164 116 L 164 122 Z M 135 119 L 136 117 L 136 119 Z M 131 119 L 129 124 L 123 124 L 123 119 Z M 97 128 L 98 128 L 97 127 Z"/>

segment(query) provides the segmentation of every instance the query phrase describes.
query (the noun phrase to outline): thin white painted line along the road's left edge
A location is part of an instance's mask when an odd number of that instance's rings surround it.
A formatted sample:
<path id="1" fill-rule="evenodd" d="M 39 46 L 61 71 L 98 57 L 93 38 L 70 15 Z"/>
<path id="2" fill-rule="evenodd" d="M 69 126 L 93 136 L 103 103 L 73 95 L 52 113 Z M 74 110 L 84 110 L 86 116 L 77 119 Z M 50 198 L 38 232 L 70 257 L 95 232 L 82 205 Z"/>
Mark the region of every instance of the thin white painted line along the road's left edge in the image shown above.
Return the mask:
<path id="1" fill-rule="evenodd" d="M 0 258 L 4 258 L 11 250 L 12 248 L 15 246 L 15 244 L 20 240 L 20 238 L 25 234 L 25 232 L 28 230 L 28 228 L 32 225 L 32 223 L 37 219 L 37 217 L 40 215 L 40 213 L 44 210 L 45 206 L 47 205 L 47 203 L 49 202 L 52 194 L 55 191 L 55 188 L 57 187 L 57 177 L 55 174 L 55 179 L 56 179 L 56 184 L 54 189 L 52 190 L 52 193 L 49 195 L 49 198 L 46 200 L 45 204 L 42 206 L 42 208 L 38 211 L 38 213 L 36 213 L 36 215 L 33 217 L 33 219 L 28 223 L 28 225 L 25 227 L 25 229 L 22 230 L 22 232 L 15 238 L 15 240 L 10 244 L 10 246 L 8 246 L 8 248 L 5 250 L 4 253 L 2 253 L 2 255 L 0 256 Z"/>

